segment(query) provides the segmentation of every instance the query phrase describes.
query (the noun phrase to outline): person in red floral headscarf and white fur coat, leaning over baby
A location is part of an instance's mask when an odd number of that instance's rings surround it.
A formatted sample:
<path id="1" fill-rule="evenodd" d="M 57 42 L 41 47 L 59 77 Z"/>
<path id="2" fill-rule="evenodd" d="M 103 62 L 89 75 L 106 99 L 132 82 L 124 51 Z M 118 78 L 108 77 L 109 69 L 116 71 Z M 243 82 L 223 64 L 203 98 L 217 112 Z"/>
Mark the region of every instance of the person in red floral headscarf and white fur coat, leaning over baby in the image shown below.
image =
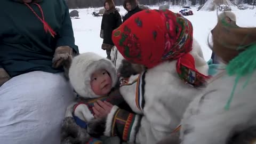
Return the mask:
<path id="1" fill-rule="evenodd" d="M 87 130 L 100 135 L 94 128 L 103 125 L 107 136 L 155 144 L 175 130 L 188 104 L 205 88 L 209 65 L 191 22 L 169 10 L 134 14 L 113 31 L 112 39 L 125 60 L 146 68 L 119 79 L 120 93 L 134 113 L 114 106 L 106 119 L 90 122 Z"/>

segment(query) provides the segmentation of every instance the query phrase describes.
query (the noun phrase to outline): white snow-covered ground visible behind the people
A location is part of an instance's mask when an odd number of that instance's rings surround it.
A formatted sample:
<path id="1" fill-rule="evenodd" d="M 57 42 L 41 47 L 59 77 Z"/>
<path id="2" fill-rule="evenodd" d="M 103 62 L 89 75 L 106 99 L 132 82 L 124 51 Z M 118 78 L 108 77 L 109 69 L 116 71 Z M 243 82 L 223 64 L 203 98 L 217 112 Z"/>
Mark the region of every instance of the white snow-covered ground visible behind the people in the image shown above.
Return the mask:
<path id="1" fill-rule="evenodd" d="M 120 14 L 124 15 L 126 11 L 122 6 L 117 6 Z M 194 37 L 201 44 L 205 60 L 211 57 L 211 50 L 207 45 L 207 37 L 210 30 L 217 23 L 217 11 L 196 11 L 196 7 L 191 7 L 194 15 L 187 16 L 193 23 Z M 101 49 L 103 39 L 100 38 L 100 25 L 102 17 L 93 17 L 92 12 L 98 12 L 99 8 L 79 9 L 79 17 L 81 19 L 72 19 L 75 34 L 75 43 L 79 47 L 80 53 L 95 52 L 106 57 L 106 52 Z M 150 7 L 150 9 L 158 9 L 158 6 Z M 179 12 L 180 7 L 170 7 L 173 12 Z M 71 10 L 70 10 L 71 11 Z M 242 27 L 256 27 L 256 9 L 254 10 L 237 10 L 233 11 L 237 16 L 237 25 Z"/>

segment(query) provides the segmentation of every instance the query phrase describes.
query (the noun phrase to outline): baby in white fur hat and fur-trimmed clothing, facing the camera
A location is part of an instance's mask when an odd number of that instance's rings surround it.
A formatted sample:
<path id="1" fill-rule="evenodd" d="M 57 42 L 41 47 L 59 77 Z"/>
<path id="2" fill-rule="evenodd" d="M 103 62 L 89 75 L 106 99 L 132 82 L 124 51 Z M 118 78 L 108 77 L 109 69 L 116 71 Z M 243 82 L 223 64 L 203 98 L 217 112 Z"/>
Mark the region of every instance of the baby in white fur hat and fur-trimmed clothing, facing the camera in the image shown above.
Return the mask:
<path id="1" fill-rule="evenodd" d="M 115 87 L 116 68 L 106 58 L 95 53 L 83 53 L 73 59 L 69 69 L 69 79 L 79 98 L 67 108 L 62 124 L 61 141 L 62 143 L 100 142 L 95 138 L 90 139 L 90 135 L 86 132 L 87 122 L 106 117 L 113 105 L 131 111 L 119 93 L 118 87 Z M 106 105 L 101 107 L 102 103 Z M 107 141 L 110 141 L 107 143 L 119 143 L 120 140 L 117 138 L 114 141 L 111 139 Z"/>

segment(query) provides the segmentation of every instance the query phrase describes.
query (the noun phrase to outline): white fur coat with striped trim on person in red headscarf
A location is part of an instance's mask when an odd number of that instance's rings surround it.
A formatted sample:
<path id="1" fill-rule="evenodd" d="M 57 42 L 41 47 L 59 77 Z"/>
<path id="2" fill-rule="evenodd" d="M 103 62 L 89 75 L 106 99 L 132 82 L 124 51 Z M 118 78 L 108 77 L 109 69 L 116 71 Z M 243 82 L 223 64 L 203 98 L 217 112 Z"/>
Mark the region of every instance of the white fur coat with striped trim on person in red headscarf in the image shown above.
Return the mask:
<path id="1" fill-rule="evenodd" d="M 175 69 L 176 61 L 163 62 L 141 74 L 121 79 L 120 92 L 140 115 L 136 142 L 156 143 L 180 124 L 188 104 L 201 92 L 185 84 Z"/>

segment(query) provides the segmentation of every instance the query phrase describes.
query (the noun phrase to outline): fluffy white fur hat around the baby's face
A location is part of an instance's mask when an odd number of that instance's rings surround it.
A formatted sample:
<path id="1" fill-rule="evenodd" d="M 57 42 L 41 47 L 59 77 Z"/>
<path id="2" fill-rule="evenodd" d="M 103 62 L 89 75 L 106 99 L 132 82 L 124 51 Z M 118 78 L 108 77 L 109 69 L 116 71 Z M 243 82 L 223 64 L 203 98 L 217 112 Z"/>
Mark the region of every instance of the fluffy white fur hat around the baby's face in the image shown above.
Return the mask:
<path id="1" fill-rule="evenodd" d="M 116 68 L 113 63 L 98 54 L 87 52 L 74 57 L 70 69 L 69 79 L 75 91 L 84 98 L 98 98 L 102 95 L 95 94 L 91 89 L 91 75 L 94 71 L 106 69 L 112 79 L 112 87 L 117 81 Z"/>

